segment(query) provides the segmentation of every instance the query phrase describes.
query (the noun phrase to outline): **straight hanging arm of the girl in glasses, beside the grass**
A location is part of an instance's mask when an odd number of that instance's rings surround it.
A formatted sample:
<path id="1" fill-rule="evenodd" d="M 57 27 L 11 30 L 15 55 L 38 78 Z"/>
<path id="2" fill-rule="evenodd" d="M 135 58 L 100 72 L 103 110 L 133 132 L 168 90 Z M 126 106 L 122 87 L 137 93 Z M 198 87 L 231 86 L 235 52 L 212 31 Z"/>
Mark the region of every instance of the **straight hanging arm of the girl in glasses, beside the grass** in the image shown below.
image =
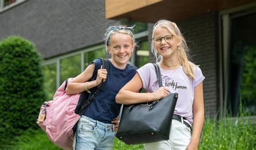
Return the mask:
<path id="1" fill-rule="evenodd" d="M 204 95 L 203 82 L 194 88 L 194 102 L 193 102 L 193 132 L 190 144 L 186 149 L 197 149 L 201 131 L 204 125 Z"/>

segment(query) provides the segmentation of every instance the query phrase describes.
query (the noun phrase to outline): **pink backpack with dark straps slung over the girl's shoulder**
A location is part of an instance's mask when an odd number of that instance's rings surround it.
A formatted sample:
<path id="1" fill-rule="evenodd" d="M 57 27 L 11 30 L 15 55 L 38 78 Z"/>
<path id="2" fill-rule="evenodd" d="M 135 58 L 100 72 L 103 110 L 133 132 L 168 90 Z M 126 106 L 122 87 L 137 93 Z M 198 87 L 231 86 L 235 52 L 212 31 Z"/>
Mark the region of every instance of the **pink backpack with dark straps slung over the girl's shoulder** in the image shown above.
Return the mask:
<path id="1" fill-rule="evenodd" d="M 103 68 L 108 70 L 109 64 L 106 59 L 102 59 L 102 63 Z M 73 135 L 80 115 L 83 114 L 84 108 L 95 100 L 106 83 L 106 81 L 102 82 L 93 96 L 88 99 L 89 94 L 87 92 L 66 94 L 65 88 L 71 80 L 72 78 L 66 79 L 57 89 L 53 99 L 44 102 L 37 119 L 37 124 L 45 131 L 48 138 L 63 149 L 72 149 Z"/>

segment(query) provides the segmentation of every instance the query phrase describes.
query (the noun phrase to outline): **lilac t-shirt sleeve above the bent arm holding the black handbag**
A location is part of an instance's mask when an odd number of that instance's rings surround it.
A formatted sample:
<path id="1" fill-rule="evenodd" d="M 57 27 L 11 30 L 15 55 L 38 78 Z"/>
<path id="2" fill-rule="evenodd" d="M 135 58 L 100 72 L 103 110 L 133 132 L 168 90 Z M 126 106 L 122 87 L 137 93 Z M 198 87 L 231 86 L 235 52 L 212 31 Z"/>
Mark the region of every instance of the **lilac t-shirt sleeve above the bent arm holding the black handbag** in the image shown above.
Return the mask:
<path id="1" fill-rule="evenodd" d="M 140 79 L 142 79 L 143 88 L 145 88 L 146 90 L 150 86 L 150 77 L 151 77 L 150 71 L 152 70 L 152 67 L 154 67 L 153 64 L 148 63 L 137 70 L 137 72 L 139 73 Z"/>

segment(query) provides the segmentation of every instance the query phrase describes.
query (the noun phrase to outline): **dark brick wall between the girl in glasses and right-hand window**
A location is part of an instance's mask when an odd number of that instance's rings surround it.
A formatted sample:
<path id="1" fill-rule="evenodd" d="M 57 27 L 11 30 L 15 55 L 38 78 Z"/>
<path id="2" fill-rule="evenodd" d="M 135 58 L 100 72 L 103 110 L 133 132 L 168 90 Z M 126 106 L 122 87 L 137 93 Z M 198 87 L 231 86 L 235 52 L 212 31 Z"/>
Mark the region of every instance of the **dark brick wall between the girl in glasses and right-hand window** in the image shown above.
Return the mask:
<path id="1" fill-rule="evenodd" d="M 217 113 L 219 101 L 217 17 L 217 13 L 211 12 L 177 23 L 191 49 L 193 62 L 200 65 L 205 76 L 205 114 L 211 116 Z"/>

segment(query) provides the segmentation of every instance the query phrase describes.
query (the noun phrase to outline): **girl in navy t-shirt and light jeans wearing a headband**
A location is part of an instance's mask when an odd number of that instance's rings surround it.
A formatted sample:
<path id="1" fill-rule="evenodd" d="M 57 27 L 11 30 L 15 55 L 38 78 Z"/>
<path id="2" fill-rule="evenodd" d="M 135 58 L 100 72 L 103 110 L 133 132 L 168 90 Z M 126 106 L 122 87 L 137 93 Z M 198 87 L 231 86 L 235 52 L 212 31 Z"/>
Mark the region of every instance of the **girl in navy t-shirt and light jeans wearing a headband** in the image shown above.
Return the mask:
<path id="1" fill-rule="evenodd" d="M 111 54 L 111 58 L 107 60 L 110 65 L 109 72 L 102 69 L 100 59 L 95 59 L 84 72 L 72 79 L 66 88 L 68 94 L 81 93 L 106 81 L 104 90 L 85 108 L 78 121 L 74 149 L 113 148 L 114 129 L 119 125 L 117 116 L 121 107 L 116 103 L 115 97 L 120 88 L 133 78 L 137 69 L 128 64 L 136 46 L 133 27 L 110 26 L 106 30 L 105 47 Z M 89 81 L 96 72 L 96 80 Z"/>

